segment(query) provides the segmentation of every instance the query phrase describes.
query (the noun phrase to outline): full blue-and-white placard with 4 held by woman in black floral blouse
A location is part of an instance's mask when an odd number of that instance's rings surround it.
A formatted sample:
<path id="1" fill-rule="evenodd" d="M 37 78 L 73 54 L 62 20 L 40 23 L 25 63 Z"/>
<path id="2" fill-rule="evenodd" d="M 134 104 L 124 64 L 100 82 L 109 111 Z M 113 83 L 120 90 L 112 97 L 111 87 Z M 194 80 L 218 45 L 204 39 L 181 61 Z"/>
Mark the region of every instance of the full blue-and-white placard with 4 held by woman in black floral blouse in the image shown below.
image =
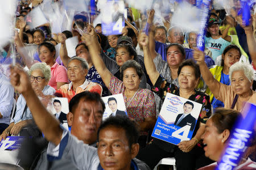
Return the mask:
<path id="1" fill-rule="evenodd" d="M 152 137 L 177 145 L 189 141 L 199 117 L 202 104 L 167 93 Z"/>

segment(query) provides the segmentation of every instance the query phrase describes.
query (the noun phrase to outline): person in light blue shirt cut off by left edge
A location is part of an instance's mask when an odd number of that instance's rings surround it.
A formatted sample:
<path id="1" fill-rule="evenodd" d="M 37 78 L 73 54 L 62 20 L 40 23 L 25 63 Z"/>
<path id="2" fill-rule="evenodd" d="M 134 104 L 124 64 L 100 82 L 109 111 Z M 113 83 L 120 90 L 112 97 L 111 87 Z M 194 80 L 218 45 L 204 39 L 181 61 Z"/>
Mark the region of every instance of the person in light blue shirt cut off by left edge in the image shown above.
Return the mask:
<path id="1" fill-rule="evenodd" d="M 9 126 L 13 101 L 14 89 L 6 76 L 0 72 L 0 134 Z"/>

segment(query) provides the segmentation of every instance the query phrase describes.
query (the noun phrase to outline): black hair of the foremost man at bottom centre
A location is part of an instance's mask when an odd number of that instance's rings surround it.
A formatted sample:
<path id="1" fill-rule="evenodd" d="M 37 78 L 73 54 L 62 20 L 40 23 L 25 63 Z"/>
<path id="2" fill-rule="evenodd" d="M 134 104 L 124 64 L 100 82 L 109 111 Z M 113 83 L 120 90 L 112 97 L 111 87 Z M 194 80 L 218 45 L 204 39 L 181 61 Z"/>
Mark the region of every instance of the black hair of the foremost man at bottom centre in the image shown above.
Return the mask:
<path id="1" fill-rule="evenodd" d="M 130 120 L 129 117 L 110 116 L 106 118 L 106 120 L 102 122 L 100 128 L 98 128 L 98 133 L 97 133 L 98 140 L 99 140 L 100 132 L 109 127 L 125 130 L 125 135 L 130 148 L 131 148 L 131 145 L 133 145 L 134 143 L 138 143 L 139 126 L 135 121 Z"/>

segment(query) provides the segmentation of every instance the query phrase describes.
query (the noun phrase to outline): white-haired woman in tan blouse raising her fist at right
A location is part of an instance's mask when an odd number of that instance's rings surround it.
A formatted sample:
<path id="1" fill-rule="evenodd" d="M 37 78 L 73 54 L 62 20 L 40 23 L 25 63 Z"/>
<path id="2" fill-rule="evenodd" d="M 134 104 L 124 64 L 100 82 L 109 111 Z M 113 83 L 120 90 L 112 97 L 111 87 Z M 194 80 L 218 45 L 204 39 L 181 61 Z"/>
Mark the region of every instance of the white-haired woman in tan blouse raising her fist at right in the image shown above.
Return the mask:
<path id="1" fill-rule="evenodd" d="M 205 83 L 216 99 L 224 103 L 224 108 L 242 111 L 243 103 L 256 103 L 256 92 L 251 90 L 253 69 L 245 63 L 234 63 L 229 69 L 231 85 L 228 86 L 214 79 L 204 62 L 204 53 L 195 50 L 194 58 L 200 66 Z"/>

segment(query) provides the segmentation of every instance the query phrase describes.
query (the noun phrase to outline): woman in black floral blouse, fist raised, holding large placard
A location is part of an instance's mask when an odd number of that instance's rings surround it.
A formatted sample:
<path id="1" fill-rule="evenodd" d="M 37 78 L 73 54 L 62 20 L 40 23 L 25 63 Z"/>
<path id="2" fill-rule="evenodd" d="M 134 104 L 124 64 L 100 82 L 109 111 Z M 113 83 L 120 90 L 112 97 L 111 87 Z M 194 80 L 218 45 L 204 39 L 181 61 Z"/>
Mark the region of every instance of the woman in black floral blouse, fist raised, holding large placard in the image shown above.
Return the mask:
<path id="1" fill-rule="evenodd" d="M 200 78 L 199 66 L 191 59 L 187 59 L 181 63 L 177 70 L 177 79 L 179 82 L 179 87 L 177 87 L 175 84 L 168 83 L 156 70 L 153 59 L 150 56 L 148 37 L 144 33 L 139 36 L 139 43 L 143 46 L 144 63 L 150 80 L 154 85 L 152 91 L 156 92 L 162 100 L 166 97 L 167 92 L 170 92 L 185 99 L 196 101 L 202 104 L 203 107 L 192 135 L 193 138 L 190 141 L 183 141 L 175 146 L 154 138 L 150 145 L 139 152 L 137 158 L 146 162 L 151 169 L 155 167 L 159 160 L 173 156 L 176 160 L 177 169 L 195 169 L 195 167 L 198 168 L 207 165 L 210 160 L 204 157 L 203 148 L 198 146 L 197 143 L 204 133 L 205 122 L 211 114 L 211 105 L 208 95 L 195 90 Z M 177 45 L 179 44 L 171 44 L 170 58 L 175 58 L 180 53 Z M 199 156 L 200 163 L 196 165 L 196 159 Z"/>

